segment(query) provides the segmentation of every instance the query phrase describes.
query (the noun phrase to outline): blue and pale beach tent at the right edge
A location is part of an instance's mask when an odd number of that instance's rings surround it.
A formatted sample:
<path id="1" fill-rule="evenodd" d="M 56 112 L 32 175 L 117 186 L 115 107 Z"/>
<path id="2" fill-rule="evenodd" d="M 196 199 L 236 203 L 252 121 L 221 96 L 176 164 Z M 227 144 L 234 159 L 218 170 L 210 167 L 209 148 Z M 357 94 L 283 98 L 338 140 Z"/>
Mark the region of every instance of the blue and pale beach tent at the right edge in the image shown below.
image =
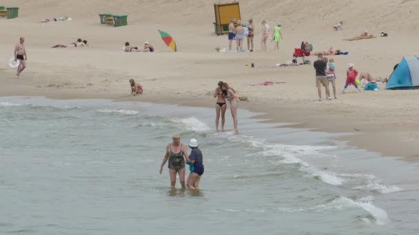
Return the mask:
<path id="1" fill-rule="evenodd" d="M 403 57 L 387 82 L 386 89 L 419 89 L 419 58 Z"/>

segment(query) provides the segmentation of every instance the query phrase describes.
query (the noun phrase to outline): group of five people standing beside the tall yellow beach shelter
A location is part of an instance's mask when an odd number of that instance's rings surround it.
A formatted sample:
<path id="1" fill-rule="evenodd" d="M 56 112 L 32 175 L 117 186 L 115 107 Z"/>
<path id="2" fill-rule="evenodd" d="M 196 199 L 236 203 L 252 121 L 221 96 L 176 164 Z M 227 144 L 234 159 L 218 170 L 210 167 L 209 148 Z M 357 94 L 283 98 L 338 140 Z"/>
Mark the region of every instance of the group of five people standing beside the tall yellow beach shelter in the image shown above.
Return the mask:
<path id="1" fill-rule="evenodd" d="M 236 23 L 236 25 L 235 25 Z M 249 52 L 253 52 L 254 49 L 254 24 L 253 19 L 249 19 L 249 24 L 243 27 L 241 21 L 237 21 L 236 19 L 232 19 L 232 21 L 228 25 L 229 33 L 228 33 L 228 40 L 229 40 L 229 51 L 232 50 L 232 43 L 236 40 L 236 50 L 237 52 L 243 51 L 243 38 L 247 37 L 247 50 Z M 266 51 L 267 49 L 267 39 L 269 38 L 269 25 L 266 21 L 262 21 L 262 37 L 260 39 L 260 45 L 263 50 Z M 274 32 L 272 33 L 272 41 L 275 41 L 275 49 L 279 49 L 279 42 L 281 38 L 283 38 L 281 32 L 281 23 L 277 23 Z"/>

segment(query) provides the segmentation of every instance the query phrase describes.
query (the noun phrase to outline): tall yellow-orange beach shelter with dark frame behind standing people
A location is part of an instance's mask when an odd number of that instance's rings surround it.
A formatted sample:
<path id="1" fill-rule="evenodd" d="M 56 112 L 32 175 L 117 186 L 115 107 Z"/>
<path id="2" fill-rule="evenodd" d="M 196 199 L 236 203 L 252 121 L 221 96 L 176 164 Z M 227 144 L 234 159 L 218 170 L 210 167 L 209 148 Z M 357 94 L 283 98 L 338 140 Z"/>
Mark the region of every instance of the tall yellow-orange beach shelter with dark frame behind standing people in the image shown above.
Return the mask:
<path id="1" fill-rule="evenodd" d="M 240 5 L 238 5 L 238 2 L 214 4 L 214 12 L 214 27 L 217 35 L 228 32 L 228 25 L 232 19 L 236 19 L 236 22 L 241 20 Z"/>

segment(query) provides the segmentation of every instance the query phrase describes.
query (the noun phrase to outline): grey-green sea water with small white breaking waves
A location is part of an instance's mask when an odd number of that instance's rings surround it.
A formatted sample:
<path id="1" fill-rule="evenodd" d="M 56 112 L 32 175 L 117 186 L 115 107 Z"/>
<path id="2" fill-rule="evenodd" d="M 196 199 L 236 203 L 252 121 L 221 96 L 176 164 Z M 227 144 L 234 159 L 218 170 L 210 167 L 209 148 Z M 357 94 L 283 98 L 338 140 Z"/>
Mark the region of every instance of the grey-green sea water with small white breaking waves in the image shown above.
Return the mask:
<path id="1" fill-rule="evenodd" d="M 244 110 L 215 133 L 214 115 L 0 98 L 0 234 L 419 234 L 418 164 Z M 159 175 L 177 133 L 203 152 L 199 191 Z"/>

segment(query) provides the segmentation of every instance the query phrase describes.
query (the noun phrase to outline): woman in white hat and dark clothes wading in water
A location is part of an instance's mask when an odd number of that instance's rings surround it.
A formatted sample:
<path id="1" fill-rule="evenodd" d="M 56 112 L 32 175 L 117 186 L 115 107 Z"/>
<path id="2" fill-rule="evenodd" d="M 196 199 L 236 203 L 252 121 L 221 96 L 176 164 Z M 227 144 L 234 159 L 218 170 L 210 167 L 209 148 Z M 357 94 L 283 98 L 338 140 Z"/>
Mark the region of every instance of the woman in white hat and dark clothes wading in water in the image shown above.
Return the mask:
<path id="1" fill-rule="evenodd" d="M 201 176 L 204 173 L 203 155 L 198 148 L 198 140 L 191 139 L 188 145 L 192 149 L 189 155 L 189 162 L 194 164 L 194 169 L 187 177 L 186 186 L 187 188 L 197 190 L 199 189 Z"/>

